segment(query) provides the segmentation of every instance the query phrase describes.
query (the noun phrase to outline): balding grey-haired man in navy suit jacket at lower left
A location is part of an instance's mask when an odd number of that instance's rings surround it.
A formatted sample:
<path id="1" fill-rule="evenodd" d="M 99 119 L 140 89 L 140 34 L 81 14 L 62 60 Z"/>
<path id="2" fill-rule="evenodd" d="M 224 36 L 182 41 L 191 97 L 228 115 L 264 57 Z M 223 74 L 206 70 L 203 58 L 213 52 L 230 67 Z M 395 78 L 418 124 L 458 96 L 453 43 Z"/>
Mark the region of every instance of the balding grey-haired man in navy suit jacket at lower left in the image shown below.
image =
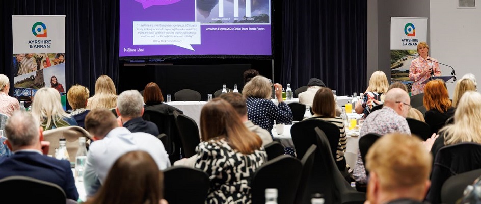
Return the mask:
<path id="1" fill-rule="evenodd" d="M 78 200 L 70 162 L 42 154 L 42 127 L 30 113 L 15 112 L 5 124 L 13 155 L 0 164 L 0 179 L 27 176 L 60 186 L 68 199 Z"/>

